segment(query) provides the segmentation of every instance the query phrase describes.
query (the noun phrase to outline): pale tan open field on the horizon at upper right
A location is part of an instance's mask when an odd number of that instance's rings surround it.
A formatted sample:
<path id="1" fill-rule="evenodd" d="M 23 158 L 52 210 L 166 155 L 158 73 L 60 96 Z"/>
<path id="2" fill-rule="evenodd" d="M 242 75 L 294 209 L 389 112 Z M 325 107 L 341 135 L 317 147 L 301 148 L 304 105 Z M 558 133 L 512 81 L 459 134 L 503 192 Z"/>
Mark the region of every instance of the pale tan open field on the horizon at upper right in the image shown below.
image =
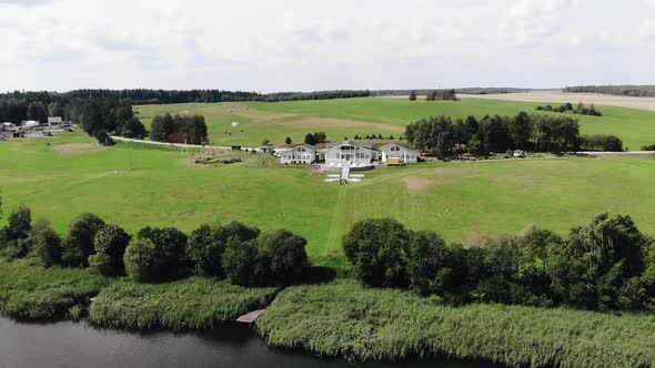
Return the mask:
<path id="1" fill-rule="evenodd" d="M 466 99 L 486 99 L 502 101 L 524 102 L 555 102 L 573 104 L 582 102 L 585 104 L 621 106 L 638 110 L 655 111 L 655 98 L 632 98 L 627 95 L 614 95 L 603 93 L 568 93 L 557 91 L 535 91 L 526 93 L 497 93 L 497 94 L 458 94 Z"/>

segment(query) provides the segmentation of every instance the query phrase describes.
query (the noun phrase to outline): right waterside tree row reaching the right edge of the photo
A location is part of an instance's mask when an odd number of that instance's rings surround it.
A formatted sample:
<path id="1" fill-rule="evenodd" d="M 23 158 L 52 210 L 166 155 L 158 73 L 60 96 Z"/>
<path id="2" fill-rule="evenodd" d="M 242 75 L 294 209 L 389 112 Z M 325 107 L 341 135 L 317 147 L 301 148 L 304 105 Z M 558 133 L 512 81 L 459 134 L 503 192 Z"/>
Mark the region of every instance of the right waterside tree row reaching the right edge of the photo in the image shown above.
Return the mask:
<path id="1" fill-rule="evenodd" d="M 530 227 L 470 248 L 391 218 L 366 219 L 353 226 L 343 248 L 362 283 L 411 288 L 449 304 L 634 310 L 655 297 L 655 243 L 628 216 L 595 216 L 567 238 Z"/>

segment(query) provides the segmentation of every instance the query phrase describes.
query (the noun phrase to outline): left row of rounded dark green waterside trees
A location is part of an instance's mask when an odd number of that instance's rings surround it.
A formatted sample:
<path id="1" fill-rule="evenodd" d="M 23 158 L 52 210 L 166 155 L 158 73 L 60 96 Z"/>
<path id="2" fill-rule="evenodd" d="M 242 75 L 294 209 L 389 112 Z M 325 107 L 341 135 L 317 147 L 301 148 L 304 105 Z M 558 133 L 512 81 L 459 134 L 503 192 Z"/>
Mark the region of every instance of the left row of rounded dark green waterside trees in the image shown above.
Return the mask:
<path id="1" fill-rule="evenodd" d="M 305 245 L 291 232 L 262 233 L 238 222 L 201 225 L 189 236 L 174 227 L 145 227 L 132 237 L 93 214 L 75 218 L 61 238 L 47 221 L 32 224 L 27 207 L 11 213 L 0 229 L 0 256 L 31 256 L 46 267 L 88 267 L 148 283 L 189 275 L 248 286 L 302 282 L 310 267 Z"/>

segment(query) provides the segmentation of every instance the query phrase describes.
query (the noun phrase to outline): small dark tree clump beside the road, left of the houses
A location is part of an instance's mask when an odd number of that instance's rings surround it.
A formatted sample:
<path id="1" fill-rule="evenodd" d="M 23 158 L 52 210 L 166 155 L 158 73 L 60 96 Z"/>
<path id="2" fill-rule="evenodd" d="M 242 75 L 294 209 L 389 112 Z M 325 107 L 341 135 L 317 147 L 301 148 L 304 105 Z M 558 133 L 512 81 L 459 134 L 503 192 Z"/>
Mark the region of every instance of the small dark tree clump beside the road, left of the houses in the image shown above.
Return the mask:
<path id="1" fill-rule="evenodd" d="M 152 119 L 150 139 L 158 142 L 203 144 L 206 142 L 204 116 L 169 113 L 157 115 Z"/>

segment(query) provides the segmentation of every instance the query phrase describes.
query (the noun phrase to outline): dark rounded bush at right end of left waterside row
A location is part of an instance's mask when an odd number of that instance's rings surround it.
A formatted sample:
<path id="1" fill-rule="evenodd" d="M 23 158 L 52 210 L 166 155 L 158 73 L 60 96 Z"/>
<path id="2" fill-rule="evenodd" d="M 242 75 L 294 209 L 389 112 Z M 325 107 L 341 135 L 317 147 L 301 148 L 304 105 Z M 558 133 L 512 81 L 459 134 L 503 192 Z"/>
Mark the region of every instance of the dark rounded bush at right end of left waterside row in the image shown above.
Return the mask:
<path id="1" fill-rule="evenodd" d="M 305 238 L 288 231 L 262 234 L 258 239 L 270 282 L 292 284 L 303 279 L 309 260 Z"/>

